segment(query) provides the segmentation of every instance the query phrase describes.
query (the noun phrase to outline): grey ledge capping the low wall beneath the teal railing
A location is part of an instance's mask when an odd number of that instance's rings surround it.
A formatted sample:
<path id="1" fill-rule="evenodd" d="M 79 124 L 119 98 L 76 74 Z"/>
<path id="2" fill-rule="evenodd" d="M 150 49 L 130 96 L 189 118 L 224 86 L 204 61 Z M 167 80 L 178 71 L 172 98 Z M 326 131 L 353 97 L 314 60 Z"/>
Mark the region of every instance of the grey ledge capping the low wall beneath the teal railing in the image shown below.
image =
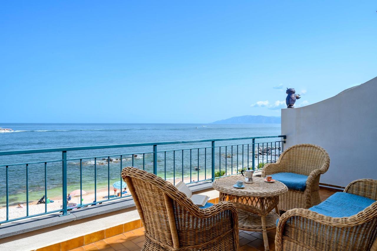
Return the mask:
<path id="1" fill-rule="evenodd" d="M 205 192 L 205 190 L 212 190 L 212 183 L 202 182 L 198 184 L 189 185 L 189 187 L 193 193 Z M 72 222 L 74 220 L 81 220 L 89 217 L 106 215 L 117 211 L 124 211 L 127 209 L 135 210 L 136 207 L 134 207 L 135 203 L 133 202 L 132 197 L 127 197 L 124 199 L 104 202 L 100 205 L 93 205 L 85 208 L 80 208 L 77 210 L 71 210 L 69 211 L 70 214 L 67 216 L 60 217 L 60 214 L 55 213 L 31 219 L 21 220 L 17 222 L 5 223 L 0 226 L 0 239 L 15 236 L 18 234 L 28 233 L 35 230 L 40 230 L 43 228 L 53 227 L 56 225 Z"/>

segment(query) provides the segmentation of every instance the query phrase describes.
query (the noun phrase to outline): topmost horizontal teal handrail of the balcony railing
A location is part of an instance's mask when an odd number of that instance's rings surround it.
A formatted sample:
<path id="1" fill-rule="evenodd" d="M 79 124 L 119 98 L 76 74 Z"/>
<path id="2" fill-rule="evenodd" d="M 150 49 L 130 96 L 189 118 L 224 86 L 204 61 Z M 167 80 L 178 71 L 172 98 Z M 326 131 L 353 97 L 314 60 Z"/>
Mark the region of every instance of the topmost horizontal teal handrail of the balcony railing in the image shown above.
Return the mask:
<path id="1" fill-rule="evenodd" d="M 94 146 L 82 146 L 82 147 L 44 148 L 44 149 L 34 149 L 34 150 L 12 150 L 12 151 L 1 151 L 0 156 L 28 154 L 28 153 L 49 153 L 49 152 L 93 150 L 93 149 L 105 149 L 105 148 L 138 147 L 138 146 L 147 146 L 147 145 L 170 145 L 170 144 L 185 144 L 185 143 L 199 143 L 199 142 L 212 142 L 212 141 L 230 141 L 230 140 L 240 140 L 240 139 L 264 139 L 264 138 L 284 138 L 285 139 L 286 136 L 279 135 L 279 136 L 224 138 L 224 139 L 198 139 L 198 140 L 170 141 L 170 142 L 120 144 L 120 145 L 94 145 Z"/>

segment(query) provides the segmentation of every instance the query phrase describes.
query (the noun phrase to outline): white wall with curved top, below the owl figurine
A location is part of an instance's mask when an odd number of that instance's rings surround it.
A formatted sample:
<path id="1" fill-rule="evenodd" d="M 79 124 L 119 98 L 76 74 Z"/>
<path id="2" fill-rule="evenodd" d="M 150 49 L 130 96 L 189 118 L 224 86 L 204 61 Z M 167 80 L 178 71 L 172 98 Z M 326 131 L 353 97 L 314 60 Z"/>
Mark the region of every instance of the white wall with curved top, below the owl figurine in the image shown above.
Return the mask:
<path id="1" fill-rule="evenodd" d="M 320 182 L 345 187 L 361 178 L 377 179 L 377 77 L 309 106 L 282 109 L 284 149 L 319 145 L 330 156 Z"/>

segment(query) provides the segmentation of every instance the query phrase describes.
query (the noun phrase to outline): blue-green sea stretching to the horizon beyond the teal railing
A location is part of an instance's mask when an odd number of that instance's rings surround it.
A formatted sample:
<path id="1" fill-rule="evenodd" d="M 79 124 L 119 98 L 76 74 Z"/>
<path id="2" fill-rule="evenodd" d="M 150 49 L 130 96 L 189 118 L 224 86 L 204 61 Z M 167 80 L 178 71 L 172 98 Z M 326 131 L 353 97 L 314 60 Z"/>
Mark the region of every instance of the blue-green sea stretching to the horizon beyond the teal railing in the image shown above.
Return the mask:
<path id="1" fill-rule="evenodd" d="M 0 123 L 0 126 L 14 130 L 0 133 L 0 151 L 280 135 L 280 124 Z M 276 140 L 280 139 L 258 139 L 256 142 Z M 216 170 L 227 168 L 229 174 L 240 166 L 251 165 L 250 143 L 251 140 L 216 142 L 216 147 L 224 146 L 215 148 Z M 198 181 L 202 176 L 210 177 L 211 148 L 206 148 L 210 146 L 211 142 L 158 145 L 158 176 L 166 179 L 173 176 L 185 177 L 190 178 L 190 181 Z M 68 192 L 80 189 L 80 181 L 86 191 L 93 191 L 94 184 L 100 189 L 107 187 L 109 183 L 111 186 L 113 182 L 120 181 L 121 162 L 123 167 L 133 165 L 152 172 L 152 151 L 152 146 L 69 151 L 67 158 L 71 160 L 67 162 Z M 26 202 L 27 183 L 29 201 L 40 199 L 44 195 L 45 177 L 49 197 L 61 196 L 61 159 L 61 152 L 0 156 L 0 165 L 20 164 L 9 165 L 8 168 L 9 204 Z M 26 163 L 31 162 L 42 163 L 26 166 Z M 4 206 L 5 197 L 6 168 L 0 167 L 0 206 Z"/>

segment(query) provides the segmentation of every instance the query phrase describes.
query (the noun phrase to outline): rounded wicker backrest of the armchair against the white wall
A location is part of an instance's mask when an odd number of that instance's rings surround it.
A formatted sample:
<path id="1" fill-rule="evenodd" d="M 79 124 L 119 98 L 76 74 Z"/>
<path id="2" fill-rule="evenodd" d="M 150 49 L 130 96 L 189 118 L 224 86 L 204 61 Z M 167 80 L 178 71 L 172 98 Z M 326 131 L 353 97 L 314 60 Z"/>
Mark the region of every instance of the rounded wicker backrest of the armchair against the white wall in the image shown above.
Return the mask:
<path id="1" fill-rule="evenodd" d="M 325 173 L 330 165 L 330 158 L 326 150 L 312 144 L 289 147 L 280 155 L 279 161 L 285 172 L 303 175 L 309 175 L 314 169 L 321 169 Z"/>

